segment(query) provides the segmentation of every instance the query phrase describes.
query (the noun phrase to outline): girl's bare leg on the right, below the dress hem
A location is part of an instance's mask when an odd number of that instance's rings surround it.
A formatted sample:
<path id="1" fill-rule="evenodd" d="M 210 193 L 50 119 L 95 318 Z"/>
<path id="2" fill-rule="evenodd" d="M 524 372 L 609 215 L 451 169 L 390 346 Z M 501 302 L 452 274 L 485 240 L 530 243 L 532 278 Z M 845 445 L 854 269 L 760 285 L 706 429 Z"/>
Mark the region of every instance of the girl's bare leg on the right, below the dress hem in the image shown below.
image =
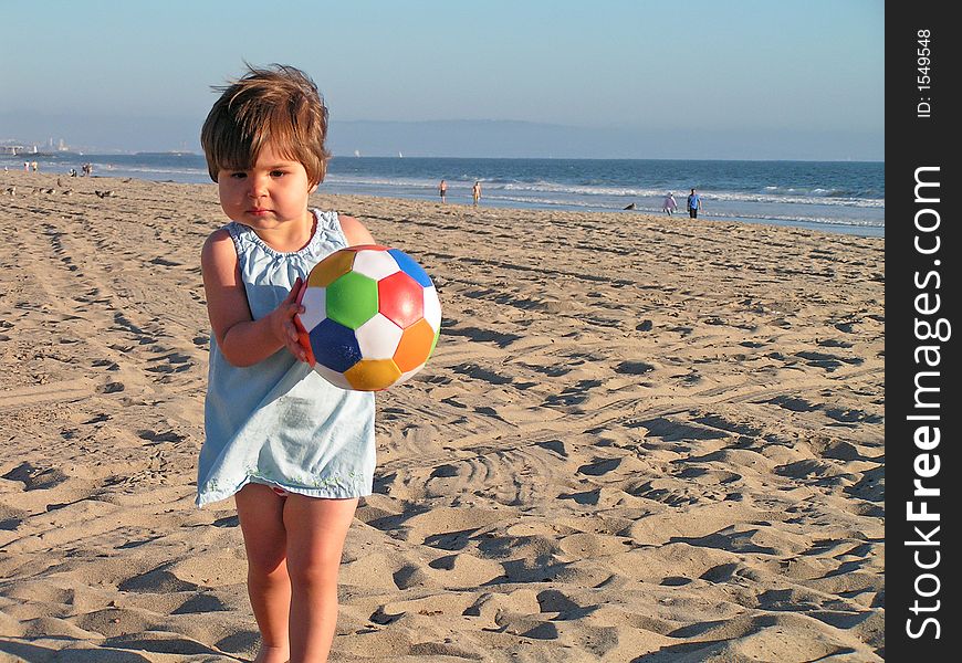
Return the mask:
<path id="1" fill-rule="evenodd" d="M 284 505 L 291 576 L 291 663 L 327 661 L 337 623 L 337 571 L 357 499 L 291 495 Z"/>

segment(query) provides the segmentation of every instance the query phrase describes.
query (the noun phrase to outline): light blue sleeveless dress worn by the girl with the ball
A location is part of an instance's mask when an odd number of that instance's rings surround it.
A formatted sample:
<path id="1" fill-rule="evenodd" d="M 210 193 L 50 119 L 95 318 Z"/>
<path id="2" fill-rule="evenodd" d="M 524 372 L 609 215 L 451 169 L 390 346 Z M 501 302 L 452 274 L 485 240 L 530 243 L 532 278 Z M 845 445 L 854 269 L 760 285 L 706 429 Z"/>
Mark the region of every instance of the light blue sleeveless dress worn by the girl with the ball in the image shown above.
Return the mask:
<path id="1" fill-rule="evenodd" d="M 233 239 L 251 315 L 283 302 L 297 276 L 347 245 L 337 212 L 312 209 L 315 231 L 294 253 L 274 251 L 237 222 Z M 250 366 L 231 366 L 213 334 L 205 401 L 197 506 L 230 497 L 250 482 L 311 497 L 370 495 L 374 393 L 334 387 L 286 348 Z"/>

